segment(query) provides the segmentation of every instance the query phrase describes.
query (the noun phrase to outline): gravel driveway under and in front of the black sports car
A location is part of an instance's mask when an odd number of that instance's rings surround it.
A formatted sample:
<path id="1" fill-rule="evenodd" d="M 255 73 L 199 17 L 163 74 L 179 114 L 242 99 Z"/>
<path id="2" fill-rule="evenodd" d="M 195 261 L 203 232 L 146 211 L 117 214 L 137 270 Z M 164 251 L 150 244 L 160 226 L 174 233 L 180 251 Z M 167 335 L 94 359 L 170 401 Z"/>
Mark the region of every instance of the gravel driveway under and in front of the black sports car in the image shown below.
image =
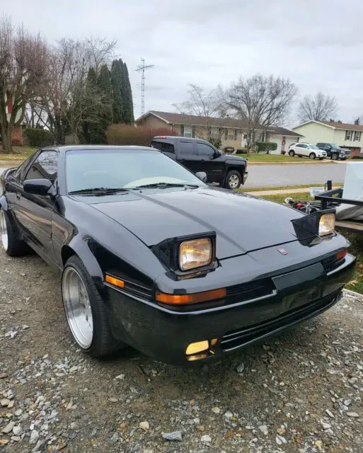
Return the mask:
<path id="1" fill-rule="evenodd" d="M 8 258 L 1 247 L 0 307 L 0 451 L 362 452 L 357 299 L 191 369 L 131 349 L 83 355 L 59 277 L 37 256 Z"/>

